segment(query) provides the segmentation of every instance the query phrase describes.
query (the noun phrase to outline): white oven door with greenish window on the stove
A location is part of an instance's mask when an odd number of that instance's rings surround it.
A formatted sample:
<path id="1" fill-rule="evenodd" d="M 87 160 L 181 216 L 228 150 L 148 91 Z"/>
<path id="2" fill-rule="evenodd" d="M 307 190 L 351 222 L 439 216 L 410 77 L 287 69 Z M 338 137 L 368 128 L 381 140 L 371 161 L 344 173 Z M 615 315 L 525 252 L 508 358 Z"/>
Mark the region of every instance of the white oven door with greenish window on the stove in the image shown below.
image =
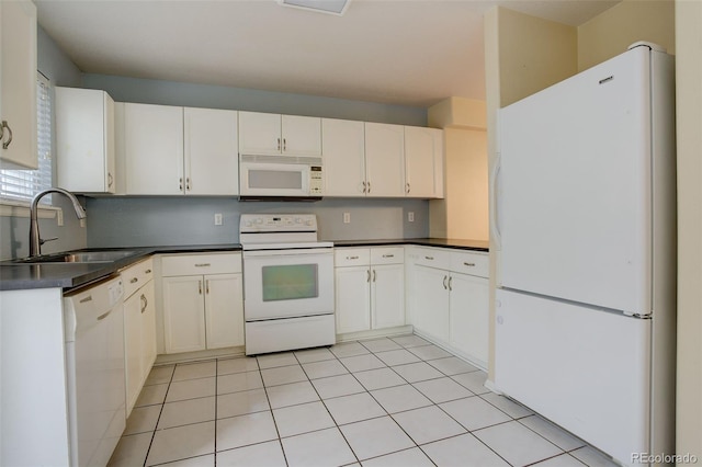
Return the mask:
<path id="1" fill-rule="evenodd" d="M 333 312 L 331 248 L 244 252 L 246 321 Z"/>

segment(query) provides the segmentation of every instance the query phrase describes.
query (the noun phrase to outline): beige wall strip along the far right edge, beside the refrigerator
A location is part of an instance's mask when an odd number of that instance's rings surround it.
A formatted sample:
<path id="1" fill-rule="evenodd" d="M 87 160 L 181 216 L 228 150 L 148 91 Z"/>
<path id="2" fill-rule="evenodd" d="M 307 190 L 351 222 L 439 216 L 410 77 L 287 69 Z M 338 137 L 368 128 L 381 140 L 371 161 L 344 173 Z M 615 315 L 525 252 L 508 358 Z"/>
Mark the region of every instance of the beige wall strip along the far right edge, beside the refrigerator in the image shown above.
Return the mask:
<path id="1" fill-rule="evenodd" d="M 702 2 L 676 1 L 677 453 L 702 462 Z"/>

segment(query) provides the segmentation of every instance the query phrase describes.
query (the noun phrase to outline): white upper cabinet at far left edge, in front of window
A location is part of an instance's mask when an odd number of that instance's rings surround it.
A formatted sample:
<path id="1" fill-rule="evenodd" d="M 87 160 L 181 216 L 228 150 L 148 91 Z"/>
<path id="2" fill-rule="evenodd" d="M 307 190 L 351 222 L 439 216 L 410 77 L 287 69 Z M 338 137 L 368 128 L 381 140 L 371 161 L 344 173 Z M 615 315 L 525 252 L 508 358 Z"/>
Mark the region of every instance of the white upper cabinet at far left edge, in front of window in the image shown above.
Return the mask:
<path id="1" fill-rule="evenodd" d="M 0 163 L 36 169 L 36 7 L 0 1 Z"/>

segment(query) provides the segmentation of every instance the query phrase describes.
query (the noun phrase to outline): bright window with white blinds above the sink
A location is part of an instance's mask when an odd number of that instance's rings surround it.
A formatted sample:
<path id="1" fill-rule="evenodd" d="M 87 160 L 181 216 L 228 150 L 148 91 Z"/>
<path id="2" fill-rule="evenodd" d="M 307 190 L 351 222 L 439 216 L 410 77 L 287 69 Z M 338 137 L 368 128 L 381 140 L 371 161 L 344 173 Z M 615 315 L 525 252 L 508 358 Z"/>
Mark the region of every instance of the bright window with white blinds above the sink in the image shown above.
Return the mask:
<path id="1" fill-rule="evenodd" d="M 36 78 L 36 136 L 39 168 L 37 170 L 0 170 L 0 197 L 30 202 L 42 190 L 52 186 L 52 98 L 48 79 Z M 50 204 L 50 195 L 42 204 Z"/>

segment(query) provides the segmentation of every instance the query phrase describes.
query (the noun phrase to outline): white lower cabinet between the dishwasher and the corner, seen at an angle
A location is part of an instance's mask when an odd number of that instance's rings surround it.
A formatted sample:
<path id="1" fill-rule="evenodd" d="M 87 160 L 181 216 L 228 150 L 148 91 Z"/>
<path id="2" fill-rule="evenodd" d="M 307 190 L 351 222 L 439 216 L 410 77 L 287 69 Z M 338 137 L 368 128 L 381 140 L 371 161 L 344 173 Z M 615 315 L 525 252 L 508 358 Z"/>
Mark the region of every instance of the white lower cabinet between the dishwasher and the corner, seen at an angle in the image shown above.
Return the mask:
<path id="1" fill-rule="evenodd" d="M 156 361 L 156 307 L 151 259 L 122 271 L 124 284 L 124 352 L 126 417 Z"/>

